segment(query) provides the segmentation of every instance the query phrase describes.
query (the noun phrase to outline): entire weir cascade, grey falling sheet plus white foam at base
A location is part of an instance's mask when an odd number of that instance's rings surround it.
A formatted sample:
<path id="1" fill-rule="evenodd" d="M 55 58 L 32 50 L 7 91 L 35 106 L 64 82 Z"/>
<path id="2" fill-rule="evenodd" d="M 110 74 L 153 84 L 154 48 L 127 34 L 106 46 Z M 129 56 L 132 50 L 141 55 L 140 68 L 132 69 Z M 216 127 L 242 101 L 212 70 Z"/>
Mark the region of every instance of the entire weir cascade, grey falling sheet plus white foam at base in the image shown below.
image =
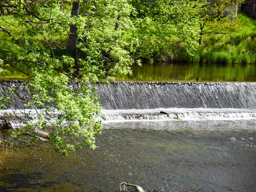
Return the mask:
<path id="1" fill-rule="evenodd" d="M 4 84 L 19 86 L 20 81 Z M 70 83 L 70 86 L 77 84 Z M 103 86 L 97 83 L 97 94 L 102 106 L 104 122 L 134 120 L 227 120 L 256 118 L 256 83 L 153 83 L 116 82 Z M 0 87 L 0 97 L 6 87 Z M 26 91 L 19 93 L 26 96 Z M 15 95 L 14 95 L 15 96 Z M 22 101 L 14 97 L 16 115 L 22 116 Z M 17 110 L 18 109 L 18 110 Z M 35 109 L 31 119 L 36 120 Z M 164 113 L 160 113 L 164 111 Z M 168 114 L 168 115 L 167 115 Z M 23 125 L 22 120 L 12 119 L 12 109 L 2 109 L 0 118 L 10 117 L 13 124 Z"/>

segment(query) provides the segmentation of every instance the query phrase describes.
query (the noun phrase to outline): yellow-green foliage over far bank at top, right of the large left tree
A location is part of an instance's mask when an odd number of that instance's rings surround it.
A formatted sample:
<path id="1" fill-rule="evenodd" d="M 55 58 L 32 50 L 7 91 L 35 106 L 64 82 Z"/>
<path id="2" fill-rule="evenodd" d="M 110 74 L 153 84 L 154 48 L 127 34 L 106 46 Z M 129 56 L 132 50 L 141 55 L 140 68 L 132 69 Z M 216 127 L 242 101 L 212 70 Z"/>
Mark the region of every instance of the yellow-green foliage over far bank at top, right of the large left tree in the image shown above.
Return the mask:
<path id="1" fill-rule="evenodd" d="M 198 48 L 200 12 L 206 1 L 132 1 L 138 10 L 134 18 L 140 38 L 140 58 L 156 58 L 154 52 L 172 51 L 173 42 L 191 53 Z"/>

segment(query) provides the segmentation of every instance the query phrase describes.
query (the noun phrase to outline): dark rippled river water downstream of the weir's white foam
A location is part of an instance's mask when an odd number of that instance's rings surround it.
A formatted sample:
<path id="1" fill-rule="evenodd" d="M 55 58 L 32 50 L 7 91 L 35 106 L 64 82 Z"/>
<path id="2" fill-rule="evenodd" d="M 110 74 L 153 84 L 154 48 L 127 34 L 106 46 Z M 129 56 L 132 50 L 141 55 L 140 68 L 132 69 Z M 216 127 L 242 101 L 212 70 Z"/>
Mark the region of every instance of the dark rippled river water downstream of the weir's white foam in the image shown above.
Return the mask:
<path id="1" fill-rule="evenodd" d="M 0 156 L 0 191 L 113 192 L 121 182 L 145 191 L 256 189 L 255 122 L 172 120 L 104 127 L 97 149 L 84 148 L 67 158 L 54 154 L 50 145 Z"/>

